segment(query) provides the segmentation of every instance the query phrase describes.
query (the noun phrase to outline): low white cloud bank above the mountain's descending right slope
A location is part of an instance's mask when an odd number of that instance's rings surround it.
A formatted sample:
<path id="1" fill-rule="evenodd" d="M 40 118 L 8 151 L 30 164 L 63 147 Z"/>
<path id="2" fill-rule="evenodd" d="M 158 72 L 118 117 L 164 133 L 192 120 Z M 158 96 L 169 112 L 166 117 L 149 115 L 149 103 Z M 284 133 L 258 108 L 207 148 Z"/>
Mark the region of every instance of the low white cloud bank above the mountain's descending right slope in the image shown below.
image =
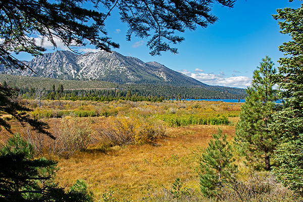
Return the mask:
<path id="1" fill-rule="evenodd" d="M 221 85 L 221 86 L 229 86 L 229 87 L 238 87 L 238 88 L 246 88 L 250 86 L 251 78 L 245 76 L 235 76 L 229 78 L 224 78 L 224 73 L 220 72 L 220 74 L 205 74 L 205 73 L 192 73 L 188 70 L 181 70 L 182 74 L 185 74 L 189 77 L 192 77 L 200 82 L 209 84 L 209 85 Z"/>

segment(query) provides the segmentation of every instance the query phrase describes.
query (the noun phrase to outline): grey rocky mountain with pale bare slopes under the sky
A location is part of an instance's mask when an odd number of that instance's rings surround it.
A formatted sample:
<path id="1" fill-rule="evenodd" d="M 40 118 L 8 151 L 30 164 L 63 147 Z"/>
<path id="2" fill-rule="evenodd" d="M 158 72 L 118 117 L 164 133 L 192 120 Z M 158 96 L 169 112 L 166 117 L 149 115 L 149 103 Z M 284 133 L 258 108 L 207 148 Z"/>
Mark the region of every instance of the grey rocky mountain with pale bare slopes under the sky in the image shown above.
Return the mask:
<path id="1" fill-rule="evenodd" d="M 184 74 L 173 71 L 157 62 L 144 63 L 117 52 L 87 53 L 76 55 L 69 51 L 57 51 L 37 56 L 25 62 L 31 71 L 0 68 L 6 74 L 46 77 L 64 80 L 101 80 L 119 84 L 166 84 L 177 86 L 207 86 Z"/>

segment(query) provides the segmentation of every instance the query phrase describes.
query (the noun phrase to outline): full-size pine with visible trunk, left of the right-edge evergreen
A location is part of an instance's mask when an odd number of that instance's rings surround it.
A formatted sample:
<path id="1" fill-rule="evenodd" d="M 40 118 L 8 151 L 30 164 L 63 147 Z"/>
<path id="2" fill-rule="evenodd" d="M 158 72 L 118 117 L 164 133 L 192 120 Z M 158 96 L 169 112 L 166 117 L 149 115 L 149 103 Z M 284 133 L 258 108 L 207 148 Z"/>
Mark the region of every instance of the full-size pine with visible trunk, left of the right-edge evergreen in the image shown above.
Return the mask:
<path id="1" fill-rule="evenodd" d="M 270 157 L 278 143 L 275 132 L 269 129 L 273 122 L 276 96 L 274 82 L 270 79 L 276 73 L 274 63 L 266 56 L 260 67 L 254 71 L 248 97 L 241 107 L 240 120 L 236 126 L 235 142 L 246 159 L 255 167 L 271 169 Z"/>

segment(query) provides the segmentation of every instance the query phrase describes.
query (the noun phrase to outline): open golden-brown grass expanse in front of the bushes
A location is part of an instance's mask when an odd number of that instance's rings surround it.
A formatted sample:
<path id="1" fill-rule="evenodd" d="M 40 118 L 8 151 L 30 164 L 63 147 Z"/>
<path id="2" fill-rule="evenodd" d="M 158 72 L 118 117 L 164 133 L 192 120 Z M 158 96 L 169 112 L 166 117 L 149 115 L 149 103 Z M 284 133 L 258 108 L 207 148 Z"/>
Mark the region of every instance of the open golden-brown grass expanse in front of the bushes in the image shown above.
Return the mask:
<path id="1" fill-rule="evenodd" d="M 234 126 L 222 128 L 223 133 L 234 135 Z M 168 128 L 167 137 L 155 144 L 114 147 L 106 152 L 88 149 L 60 160 L 57 180 L 69 186 L 84 179 L 96 198 L 105 190 L 114 190 L 118 199 L 128 195 L 140 199 L 150 189 L 170 189 L 177 177 L 184 186 L 198 190 L 199 153 L 217 129 L 209 125 Z"/>

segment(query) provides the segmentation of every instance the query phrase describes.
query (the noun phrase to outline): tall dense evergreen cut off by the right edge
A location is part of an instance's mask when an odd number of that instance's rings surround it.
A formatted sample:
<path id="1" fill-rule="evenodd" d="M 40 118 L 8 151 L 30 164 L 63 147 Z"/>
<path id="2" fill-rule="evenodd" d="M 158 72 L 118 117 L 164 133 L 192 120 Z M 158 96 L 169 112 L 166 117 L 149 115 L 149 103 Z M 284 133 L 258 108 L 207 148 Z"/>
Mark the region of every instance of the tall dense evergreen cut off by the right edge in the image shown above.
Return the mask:
<path id="1" fill-rule="evenodd" d="M 290 34 L 291 40 L 279 46 L 286 57 L 278 61 L 280 67 L 275 79 L 284 103 L 271 124 L 271 128 L 281 135 L 273 171 L 285 186 L 303 195 L 303 5 L 277 12 L 273 17 L 280 20 L 280 32 Z"/>

